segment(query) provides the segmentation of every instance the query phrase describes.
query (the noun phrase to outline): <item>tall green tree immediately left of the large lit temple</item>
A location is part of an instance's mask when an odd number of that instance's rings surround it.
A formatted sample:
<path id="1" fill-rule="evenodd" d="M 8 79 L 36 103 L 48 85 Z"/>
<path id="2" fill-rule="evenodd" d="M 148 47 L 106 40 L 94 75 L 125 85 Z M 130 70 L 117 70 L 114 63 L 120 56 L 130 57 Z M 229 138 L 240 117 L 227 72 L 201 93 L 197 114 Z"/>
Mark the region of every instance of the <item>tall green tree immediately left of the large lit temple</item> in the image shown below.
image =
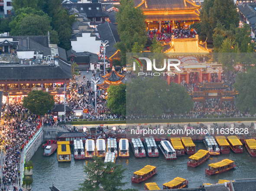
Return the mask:
<path id="1" fill-rule="evenodd" d="M 134 2 L 130 0 L 121 0 L 120 5 L 116 19 L 118 23 L 117 31 L 121 41 L 115 46 L 120 50 L 122 65 L 125 65 L 126 52 L 132 52 L 135 42 L 138 43 L 136 48 L 138 46 L 144 47 L 147 36 L 145 31 L 145 16 L 142 10 L 135 8 Z"/>

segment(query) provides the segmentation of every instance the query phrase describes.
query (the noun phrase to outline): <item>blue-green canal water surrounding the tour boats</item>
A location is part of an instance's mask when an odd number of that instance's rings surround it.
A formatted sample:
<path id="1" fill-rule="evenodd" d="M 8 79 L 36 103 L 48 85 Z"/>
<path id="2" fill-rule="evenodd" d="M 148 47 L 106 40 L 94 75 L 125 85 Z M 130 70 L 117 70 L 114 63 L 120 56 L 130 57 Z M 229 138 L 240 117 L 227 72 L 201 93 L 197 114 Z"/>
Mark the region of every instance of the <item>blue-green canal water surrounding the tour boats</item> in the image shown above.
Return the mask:
<path id="1" fill-rule="evenodd" d="M 203 143 L 195 143 L 196 149 L 205 149 Z M 186 178 L 188 180 L 188 188 L 198 188 L 203 183 L 218 182 L 219 179 L 233 180 L 235 178 L 255 178 L 256 174 L 256 157 L 250 157 L 246 148 L 243 153 L 235 154 L 231 151 L 229 154 L 220 154 L 220 156 L 211 156 L 205 163 L 196 168 L 187 166 L 188 157 L 190 155 L 180 156 L 177 160 L 165 160 L 161 155 L 158 158 L 135 158 L 133 151 L 130 150 L 130 158 L 116 160 L 116 163 L 122 164 L 127 170 L 124 172 L 125 178 L 123 182 L 127 184 L 123 188 L 136 188 L 144 190 L 144 183 L 156 182 L 159 188 L 162 184 L 171 181 L 175 177 Z M 61 191 L 72 191 L 79 188 L 79 183 L 85 178 L 83 166 L 91 163 L 92 160 L 74 160 L 71 147 L 71 163 L 58 163 L 57 153 L 51 157 L 42 155 L 43 149 L 39 147 L 35 155 L 32 157 L 34 163 L 33 168 L 33 191 L 48 191 L 52 183 Z M 216 163 L 224 159 L 234 160 L 236 168 L 219 175 L 206 175 L 205 168 L 207 164 Z M 136 184 L 131 182 L 133 172 L 142 169 L 146 165 L 156 166 L 158 173 L 147 181 Z"/>

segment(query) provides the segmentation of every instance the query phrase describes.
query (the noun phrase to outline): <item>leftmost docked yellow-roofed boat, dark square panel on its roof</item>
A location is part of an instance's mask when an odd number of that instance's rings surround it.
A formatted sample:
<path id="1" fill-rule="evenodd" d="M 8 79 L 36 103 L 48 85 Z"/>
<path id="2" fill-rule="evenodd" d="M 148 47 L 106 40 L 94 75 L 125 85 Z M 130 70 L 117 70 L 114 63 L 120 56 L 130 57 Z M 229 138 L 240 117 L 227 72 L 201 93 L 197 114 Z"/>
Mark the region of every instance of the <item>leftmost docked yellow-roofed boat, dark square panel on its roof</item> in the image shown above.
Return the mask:
<path id="1" fill-rule="evenodd" d="M 58 162 L 71 162 L 71 151 L 69 141 L 58 141 L 57 157 Z"/>

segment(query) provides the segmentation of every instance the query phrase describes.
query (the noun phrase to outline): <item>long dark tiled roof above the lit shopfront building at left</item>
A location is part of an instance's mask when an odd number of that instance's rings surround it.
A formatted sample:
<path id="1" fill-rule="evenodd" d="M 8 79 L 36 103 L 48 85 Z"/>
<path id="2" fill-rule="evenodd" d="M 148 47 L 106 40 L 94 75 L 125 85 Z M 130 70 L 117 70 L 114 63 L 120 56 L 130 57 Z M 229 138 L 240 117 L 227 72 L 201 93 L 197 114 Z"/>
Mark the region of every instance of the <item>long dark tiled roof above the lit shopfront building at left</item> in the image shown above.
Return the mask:
<path id="1" fill-rule="evenodd" d="M 0 80 L 37 80 L 72 78 L 60 66 L 3 66 L 0 67 Z"/>

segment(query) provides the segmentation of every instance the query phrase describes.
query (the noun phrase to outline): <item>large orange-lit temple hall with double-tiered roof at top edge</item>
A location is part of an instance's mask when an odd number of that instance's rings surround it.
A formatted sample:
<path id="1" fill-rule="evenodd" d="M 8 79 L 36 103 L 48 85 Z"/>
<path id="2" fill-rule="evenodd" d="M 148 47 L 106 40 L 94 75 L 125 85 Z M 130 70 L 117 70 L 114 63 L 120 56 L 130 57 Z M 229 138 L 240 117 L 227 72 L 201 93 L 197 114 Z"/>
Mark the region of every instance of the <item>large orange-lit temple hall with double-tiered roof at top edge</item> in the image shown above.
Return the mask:
<path id="1" fill-rule="evenodd" d="M 200 21 L 201 4 L 197 5 L 193 0 L 134 0 L 134 4 L 143 10 L 149 30 L 161 30 L 163 25 L 188 27 Z"/>

